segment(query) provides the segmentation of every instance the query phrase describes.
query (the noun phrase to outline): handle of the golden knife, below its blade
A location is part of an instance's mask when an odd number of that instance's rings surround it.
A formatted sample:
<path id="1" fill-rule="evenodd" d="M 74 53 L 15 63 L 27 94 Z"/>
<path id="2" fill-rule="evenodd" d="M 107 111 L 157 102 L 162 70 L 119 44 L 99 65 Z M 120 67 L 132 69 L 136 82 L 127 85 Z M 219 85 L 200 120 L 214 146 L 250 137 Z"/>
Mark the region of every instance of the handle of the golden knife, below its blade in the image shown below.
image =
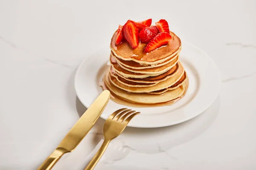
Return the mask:
<path id="1" fill-rule="evenodd" d="M 61 147 L 56 148 L 50 156 L 41 164 L 38 170 L 51 170 L 52 167 L 57 163 L 57 161 L 64 155 L 64 153 L 68 153 L 68 150 L 65 150 Z"/>

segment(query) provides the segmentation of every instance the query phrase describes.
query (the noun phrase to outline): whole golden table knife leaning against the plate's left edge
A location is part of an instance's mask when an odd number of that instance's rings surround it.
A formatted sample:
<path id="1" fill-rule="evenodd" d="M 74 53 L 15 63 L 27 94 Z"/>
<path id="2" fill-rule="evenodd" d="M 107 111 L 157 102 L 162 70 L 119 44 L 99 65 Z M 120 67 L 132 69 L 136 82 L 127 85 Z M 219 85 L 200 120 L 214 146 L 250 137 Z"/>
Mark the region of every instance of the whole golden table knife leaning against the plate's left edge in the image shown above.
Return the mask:
<path id="1" fill-rule="evenodd" d="M 50 170 L 64 153 L 72 152 L 76 146 L 84 139 L 84 136 L 90 131 L 99 116 L 104 111 L 110 98 L 108 90 L 103 91 L 92 105 L 84 112 L 76 124 L 67 133 L 58 147 L 41 164 L 38 170 Z"/>

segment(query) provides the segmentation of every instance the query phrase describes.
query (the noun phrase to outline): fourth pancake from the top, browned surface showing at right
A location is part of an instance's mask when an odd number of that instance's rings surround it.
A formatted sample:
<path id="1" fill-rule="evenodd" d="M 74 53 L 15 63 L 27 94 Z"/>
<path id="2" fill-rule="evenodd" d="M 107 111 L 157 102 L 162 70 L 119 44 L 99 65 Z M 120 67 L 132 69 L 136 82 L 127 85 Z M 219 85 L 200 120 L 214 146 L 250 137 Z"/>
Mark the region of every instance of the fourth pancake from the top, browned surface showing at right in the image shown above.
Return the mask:
<path id="1" fill-rule="evenodd" d="M 173 66 L 169 71 L 166 71 L 163 74 L 160 74 L 155 77 L 146 77 L 144 79 L 138 79 L 138 78 L 128 78 L 128 77 L 123 77 L 121 74 L 115 72 L 119 77 L 122 77 L 123 79 L 126 79 L 130 82 L 144 82 L 144 83 L 158 83 L 165 81 L 166 79 L 172 77 L 179 69 L 179 64 L 178 62 L 175 66 Z"/>

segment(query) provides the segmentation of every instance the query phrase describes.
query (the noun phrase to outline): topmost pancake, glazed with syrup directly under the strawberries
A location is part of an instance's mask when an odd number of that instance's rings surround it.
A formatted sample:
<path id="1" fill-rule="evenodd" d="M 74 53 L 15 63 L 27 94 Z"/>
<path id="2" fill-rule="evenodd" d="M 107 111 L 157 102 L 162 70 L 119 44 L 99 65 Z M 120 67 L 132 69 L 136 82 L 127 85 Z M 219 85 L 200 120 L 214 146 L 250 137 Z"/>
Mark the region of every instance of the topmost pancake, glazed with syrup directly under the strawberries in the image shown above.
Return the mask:
<path id="1" fill-rule="evenodd" d="M 126 41 L 116 45 L 116 34 L 113 34 L 111 39 L 110 48 L 113 54 L 126 61 L 135 61 L 144 65 L 155 65 L 164 62 L 177 54 L 181 49 L 180 38 L 170 31 L 172 40 L 167 44 L 147 54 L 143 53 L 146 46 L 145 43 L 139 42 L 139 46 L 135 49 L 131 48 L 130 44 Z"/>

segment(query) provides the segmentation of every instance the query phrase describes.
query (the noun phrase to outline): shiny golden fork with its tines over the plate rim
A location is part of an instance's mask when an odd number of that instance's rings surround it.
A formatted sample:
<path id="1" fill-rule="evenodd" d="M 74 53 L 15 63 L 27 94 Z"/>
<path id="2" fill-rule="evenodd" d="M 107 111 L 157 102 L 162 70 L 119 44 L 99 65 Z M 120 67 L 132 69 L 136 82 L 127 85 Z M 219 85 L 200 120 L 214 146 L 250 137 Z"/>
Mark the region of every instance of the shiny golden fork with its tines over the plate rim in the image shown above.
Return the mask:
<path id="1" fill-rule="evenodd" d="M 84 170 L 93 170 L 93 168 L 96 166 L 99 159 L 102 157 L 103 153 L 107 149 L 108 144 L 111 142 L 111 140 L 116 138 L 120 133 L 122 133 L 128 123 L 131 121 L 131 119 L 139 113 L 140 112 L 132 111 L 131 109 L 122 108 L 115 111 L 108 117 L 103 127 L 104 142 Z"/>

